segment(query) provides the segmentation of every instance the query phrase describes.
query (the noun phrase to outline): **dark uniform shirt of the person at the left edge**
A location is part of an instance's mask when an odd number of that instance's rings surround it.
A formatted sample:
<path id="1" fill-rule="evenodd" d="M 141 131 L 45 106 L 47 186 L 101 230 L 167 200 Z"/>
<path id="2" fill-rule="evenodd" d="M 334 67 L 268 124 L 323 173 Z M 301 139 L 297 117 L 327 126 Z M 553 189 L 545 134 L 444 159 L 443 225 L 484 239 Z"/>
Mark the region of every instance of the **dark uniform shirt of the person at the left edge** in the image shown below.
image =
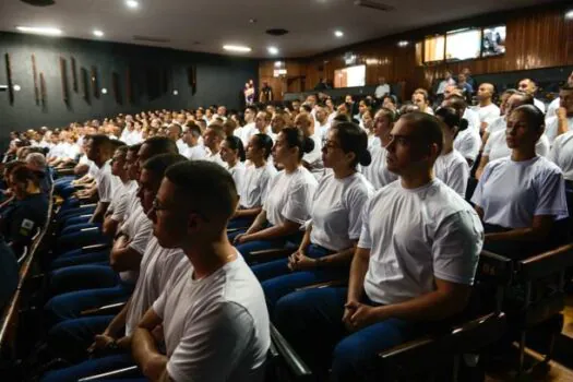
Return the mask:
<path id="1" fill-rule="evenodd" d="M 37 229 L 44 227 L 48 208 L 48 195 L 37 193 L 24 200 L 14 200 L 0 212 L 0 234 L 12 242 L 16 254 L 22 253 Z"/>

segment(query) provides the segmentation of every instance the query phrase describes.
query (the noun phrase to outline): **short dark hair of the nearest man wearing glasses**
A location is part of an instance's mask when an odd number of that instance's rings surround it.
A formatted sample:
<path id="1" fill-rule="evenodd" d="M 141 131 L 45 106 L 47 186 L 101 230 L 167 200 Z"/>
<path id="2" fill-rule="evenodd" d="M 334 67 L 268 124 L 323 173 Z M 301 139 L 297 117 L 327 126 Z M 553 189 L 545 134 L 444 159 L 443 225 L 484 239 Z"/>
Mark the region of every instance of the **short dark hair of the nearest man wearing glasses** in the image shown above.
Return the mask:
<path id="1" fill-rule="evenodd" d="M 207 217 L 217 214 L 228 220 L 235 213 L 237 187 L 223 166 L 207 160 L 186 160 L 169 167 L 165 177 Z"/>

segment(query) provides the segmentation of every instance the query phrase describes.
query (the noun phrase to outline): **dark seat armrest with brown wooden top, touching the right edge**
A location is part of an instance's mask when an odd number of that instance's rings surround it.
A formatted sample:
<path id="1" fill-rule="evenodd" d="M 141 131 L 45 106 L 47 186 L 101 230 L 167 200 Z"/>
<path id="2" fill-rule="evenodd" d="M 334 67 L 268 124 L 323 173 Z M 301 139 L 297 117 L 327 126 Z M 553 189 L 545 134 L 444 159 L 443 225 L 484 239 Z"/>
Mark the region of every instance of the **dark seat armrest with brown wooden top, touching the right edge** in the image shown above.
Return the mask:
<path id="1" fill-rule="evenodd" d="M 573 243 L 559 247 L 518 262 L 518 277 L 523 282 L 544 278 L 573 266 Z"/>

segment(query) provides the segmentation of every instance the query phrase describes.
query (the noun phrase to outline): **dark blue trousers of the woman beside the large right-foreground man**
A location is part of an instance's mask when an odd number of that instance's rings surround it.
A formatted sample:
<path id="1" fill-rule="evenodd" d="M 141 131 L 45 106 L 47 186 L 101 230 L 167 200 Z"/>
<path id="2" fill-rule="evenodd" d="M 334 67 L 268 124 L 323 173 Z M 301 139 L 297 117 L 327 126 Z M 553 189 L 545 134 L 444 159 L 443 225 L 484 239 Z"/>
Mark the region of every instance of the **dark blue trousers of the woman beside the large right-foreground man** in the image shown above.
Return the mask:
<path id="1" fill-rule="evenodd" d="M 333 251 L 314 244 L 310 244 L 306 250 L 306 254 L 312 259 L 323 258 L 332 253 Z M 287 264 L 288 259 L 279 259 L 252 266 L 254 275 L 263 287 L 266 307 L 271 314 L 276 301 L 297 288 L 348 277 L 347 266 L 291 272 Z"/>

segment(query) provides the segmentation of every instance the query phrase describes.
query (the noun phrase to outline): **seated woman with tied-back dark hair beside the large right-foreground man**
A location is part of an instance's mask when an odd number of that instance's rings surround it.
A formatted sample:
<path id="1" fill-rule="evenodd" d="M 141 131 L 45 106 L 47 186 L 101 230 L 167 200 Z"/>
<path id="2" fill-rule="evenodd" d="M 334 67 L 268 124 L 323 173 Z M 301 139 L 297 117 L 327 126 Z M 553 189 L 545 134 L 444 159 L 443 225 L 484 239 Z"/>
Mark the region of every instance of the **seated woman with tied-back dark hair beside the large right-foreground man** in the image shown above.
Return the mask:
<path id="1" fill-rule="evenodd" d="M 322 147 L 332 172 L 320 181 L 310 220 L 298 250 L 289 259 L 253 265 L 262 282 L 268 311 L 283 296 L 307 285 L 348 277 L 348 267 L 362 227 L 362 206 L 374 188 L 356 167 L 370 164 L 366 132 L 350 122 L 329 131 Z"/>

